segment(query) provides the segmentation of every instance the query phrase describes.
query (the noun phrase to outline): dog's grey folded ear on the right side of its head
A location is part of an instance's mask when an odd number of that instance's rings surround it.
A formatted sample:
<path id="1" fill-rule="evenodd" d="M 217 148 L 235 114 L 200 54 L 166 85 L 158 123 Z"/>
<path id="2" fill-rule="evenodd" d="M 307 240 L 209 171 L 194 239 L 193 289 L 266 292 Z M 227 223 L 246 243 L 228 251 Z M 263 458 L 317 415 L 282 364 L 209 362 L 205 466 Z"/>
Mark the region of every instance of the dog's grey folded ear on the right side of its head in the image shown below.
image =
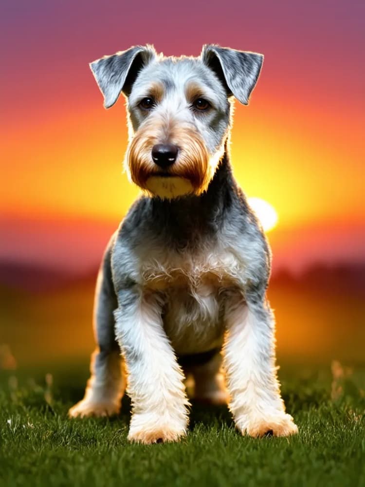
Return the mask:
<path id="1" fill-rule="evenodd" d="M 228 96 L 233 95 L 240 103 L 248 105 L 264 60 L 262 54 L 205 44 L 201 59 L 218 75 Z"/>

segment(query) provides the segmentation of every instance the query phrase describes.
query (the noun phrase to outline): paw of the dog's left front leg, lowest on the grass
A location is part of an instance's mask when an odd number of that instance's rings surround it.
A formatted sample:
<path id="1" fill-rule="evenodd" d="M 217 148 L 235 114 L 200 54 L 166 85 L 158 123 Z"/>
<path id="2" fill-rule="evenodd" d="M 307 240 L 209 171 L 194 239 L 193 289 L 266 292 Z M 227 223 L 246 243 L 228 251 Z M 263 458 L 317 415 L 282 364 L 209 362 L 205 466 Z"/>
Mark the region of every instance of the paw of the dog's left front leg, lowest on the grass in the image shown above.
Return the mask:
<path id="1" fill-rule="evenodd" d="M 165 443 L 179 441 L 186 436 L 186 420 L 170 420 L 148 417 L 148 414 L 133 414 L 128 440 L 149 445 L 151 443 Z"/>

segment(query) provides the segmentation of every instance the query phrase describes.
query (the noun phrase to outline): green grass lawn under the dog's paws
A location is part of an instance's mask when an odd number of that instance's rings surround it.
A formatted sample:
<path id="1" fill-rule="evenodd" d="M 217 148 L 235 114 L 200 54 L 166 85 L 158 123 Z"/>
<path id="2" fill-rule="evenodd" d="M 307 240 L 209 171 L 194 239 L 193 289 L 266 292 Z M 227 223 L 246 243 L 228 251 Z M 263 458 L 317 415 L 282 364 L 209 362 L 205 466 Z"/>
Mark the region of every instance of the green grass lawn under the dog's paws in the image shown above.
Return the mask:
<path id="1" fill-rule="evenodd" d="M 227 408 L 193 404 L 187 438 L 152 446 L 128 443 L 127 397 L 117 418 L 67 419 L 85 368 L 40 374 L 1 372 L 0 485 L 365 486 L 361 368 L 280 371 L 295 437 L 242 437 Z"/>

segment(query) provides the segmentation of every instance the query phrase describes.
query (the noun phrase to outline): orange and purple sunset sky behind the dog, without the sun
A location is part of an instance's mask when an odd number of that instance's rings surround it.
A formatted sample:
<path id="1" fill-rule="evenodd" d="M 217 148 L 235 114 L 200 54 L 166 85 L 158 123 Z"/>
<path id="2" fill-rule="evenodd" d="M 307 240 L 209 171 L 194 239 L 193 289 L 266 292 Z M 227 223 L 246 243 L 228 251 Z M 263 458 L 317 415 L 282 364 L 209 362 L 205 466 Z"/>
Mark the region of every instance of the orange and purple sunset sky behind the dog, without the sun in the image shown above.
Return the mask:
<path id="1" fill-rule="evenodd" d="M 97 265 L 138 188 L 122 174 L 124 100 L 103 108 L 88 63 L 148 42 L 265 55 L 236 102 L 232 162 L 278 214 L 274 266 L 364 261 L 364 18 L 359 1 L 2 5 L 0 260 Z"/>

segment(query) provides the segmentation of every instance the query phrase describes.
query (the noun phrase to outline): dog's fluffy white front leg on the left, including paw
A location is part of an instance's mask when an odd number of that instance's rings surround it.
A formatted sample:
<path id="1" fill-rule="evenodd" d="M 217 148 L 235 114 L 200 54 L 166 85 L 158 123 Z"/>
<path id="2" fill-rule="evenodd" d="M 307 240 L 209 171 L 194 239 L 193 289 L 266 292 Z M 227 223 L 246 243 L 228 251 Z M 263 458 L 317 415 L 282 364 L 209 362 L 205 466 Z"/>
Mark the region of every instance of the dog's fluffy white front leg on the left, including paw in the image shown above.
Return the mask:
<path id="1" fill-rule="evenodd" d="M 164 332 L 162 304 L 158 294 L 126 289 L 114 312 L 132 401 L 128 439 L 141 443 L 176 441 L 188 423 L 184 376 Z"/>

